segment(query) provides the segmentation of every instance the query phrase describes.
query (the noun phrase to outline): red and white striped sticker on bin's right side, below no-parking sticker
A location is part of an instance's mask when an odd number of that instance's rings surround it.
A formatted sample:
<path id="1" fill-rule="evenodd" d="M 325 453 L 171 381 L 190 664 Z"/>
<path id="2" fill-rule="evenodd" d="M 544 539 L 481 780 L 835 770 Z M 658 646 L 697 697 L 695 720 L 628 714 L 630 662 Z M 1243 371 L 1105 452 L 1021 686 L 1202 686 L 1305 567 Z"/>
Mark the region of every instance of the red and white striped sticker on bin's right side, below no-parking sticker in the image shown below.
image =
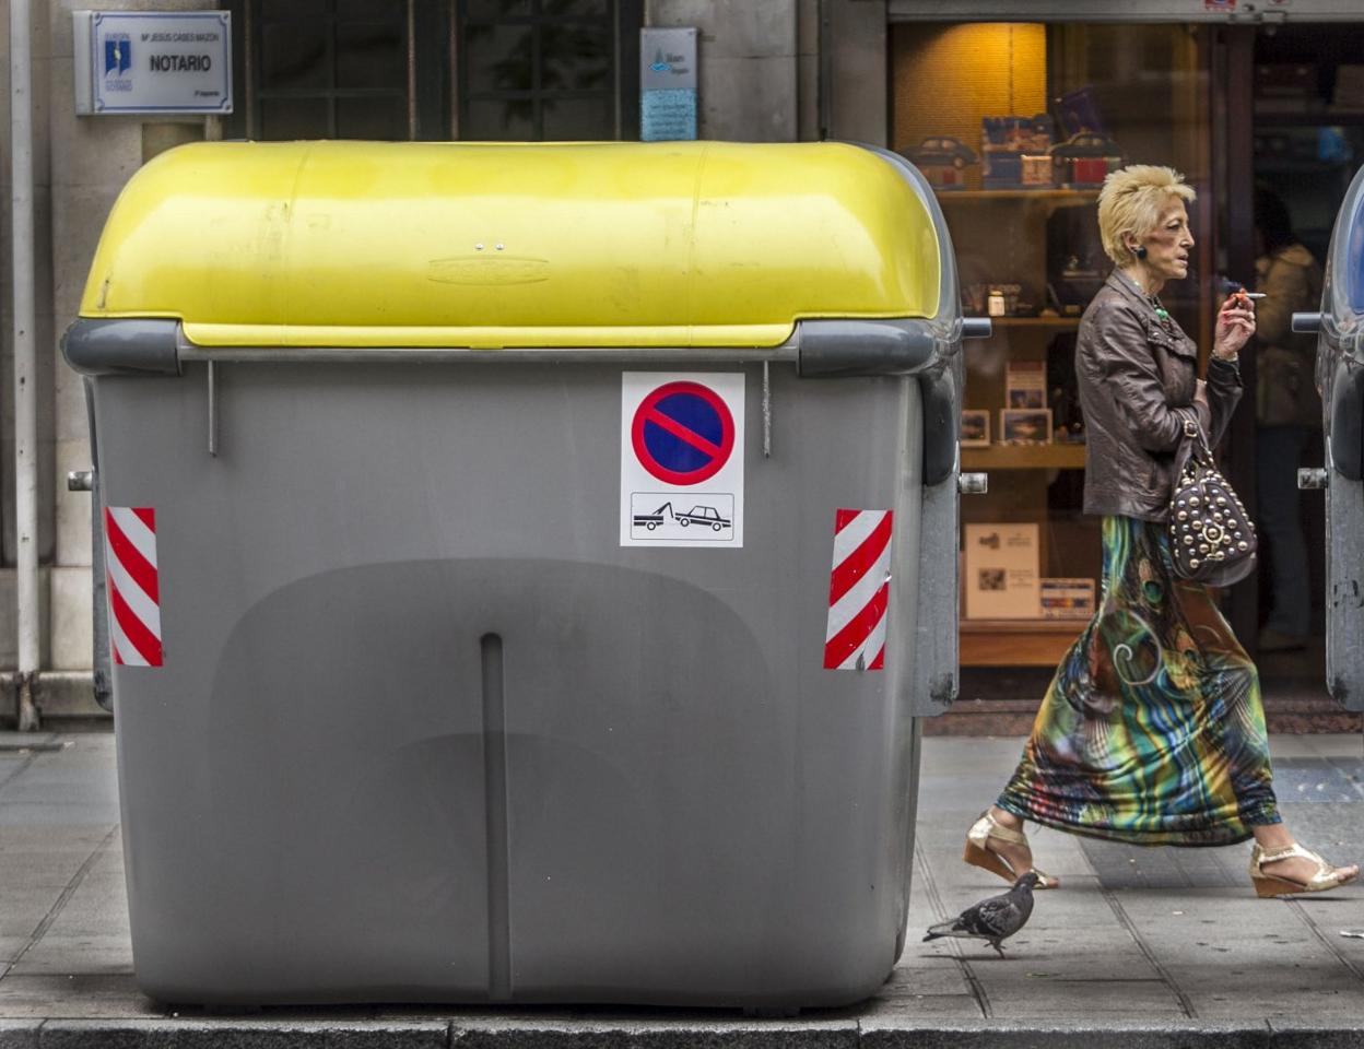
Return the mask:
<path id="1" fill-rule="evenodd" d="M 833 522 L 825 670 L 885 668 L 891 597 L 889 510 L 839 510 Z"/>

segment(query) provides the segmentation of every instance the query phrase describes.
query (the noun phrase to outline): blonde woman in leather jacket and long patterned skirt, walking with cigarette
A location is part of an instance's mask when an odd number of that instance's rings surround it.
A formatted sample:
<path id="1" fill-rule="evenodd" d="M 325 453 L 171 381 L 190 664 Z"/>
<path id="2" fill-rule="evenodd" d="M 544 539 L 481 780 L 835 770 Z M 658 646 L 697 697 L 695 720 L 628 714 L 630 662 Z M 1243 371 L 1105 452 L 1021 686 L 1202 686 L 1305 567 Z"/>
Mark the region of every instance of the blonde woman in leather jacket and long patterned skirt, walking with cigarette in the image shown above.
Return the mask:
<path id="1" fill-rule="evenodd" d="M 1251 301 L 1217 316 L 1207 382 L 1161 306 L 1188 276 L 1185 203 L 1169 168 L 1108 176 L 1098 218 L 1116 267 L 1080 321 L 1076 372 L 1088 446 L 1084 512 L 1103 518 L 1099 608 L 1057 667 L 1012 779 L 966 842 L 966 862 L 1012 880 L 1033 868 L 1023 821 L 1142 846 L 1255 838 L 1260 896 L 1333 889 L 1359 874 L 1293 840 L 1271 784 L 1255 664 L 1207 589 L 1170 561 L 1168 503 L 1185 420 L 1215 445 L 1241 396 Z M 1038 888 L 1057 880 L 1037 872 Z"/>

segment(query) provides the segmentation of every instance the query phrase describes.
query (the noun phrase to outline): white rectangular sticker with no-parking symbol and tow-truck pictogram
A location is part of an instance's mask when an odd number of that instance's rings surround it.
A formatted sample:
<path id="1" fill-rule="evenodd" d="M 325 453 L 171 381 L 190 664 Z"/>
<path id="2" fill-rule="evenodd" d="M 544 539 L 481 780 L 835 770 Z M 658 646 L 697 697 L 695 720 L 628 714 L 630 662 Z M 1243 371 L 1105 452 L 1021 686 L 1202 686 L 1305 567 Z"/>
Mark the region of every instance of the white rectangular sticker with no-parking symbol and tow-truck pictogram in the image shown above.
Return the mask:
<path id="1" fill-rule="evenodd" d="M 622 374 L 621 546 L 743 546 L 742 374 Z"/>

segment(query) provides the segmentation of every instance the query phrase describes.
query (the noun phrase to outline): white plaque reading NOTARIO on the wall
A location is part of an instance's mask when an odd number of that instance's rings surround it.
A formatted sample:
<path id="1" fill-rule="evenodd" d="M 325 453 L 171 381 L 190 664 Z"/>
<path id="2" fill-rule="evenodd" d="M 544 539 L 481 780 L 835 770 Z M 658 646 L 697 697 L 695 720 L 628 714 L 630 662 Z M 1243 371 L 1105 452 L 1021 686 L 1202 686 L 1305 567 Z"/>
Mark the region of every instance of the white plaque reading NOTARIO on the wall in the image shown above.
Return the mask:
<path id="1" fill-rule="evenodd" d="M 78 113 L 231 113 L 226 11 L 75 11 Z"/>

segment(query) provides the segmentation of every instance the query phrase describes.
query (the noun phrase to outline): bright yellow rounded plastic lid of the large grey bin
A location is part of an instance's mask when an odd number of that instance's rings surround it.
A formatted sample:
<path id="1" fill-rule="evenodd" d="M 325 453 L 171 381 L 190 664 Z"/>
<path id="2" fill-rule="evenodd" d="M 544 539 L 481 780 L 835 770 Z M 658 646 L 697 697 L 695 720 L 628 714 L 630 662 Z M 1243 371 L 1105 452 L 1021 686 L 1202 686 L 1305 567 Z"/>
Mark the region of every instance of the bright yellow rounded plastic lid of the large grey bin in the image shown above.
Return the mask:
<path id="1" fill-rule="evenodd" d="M 124 188 L 80 315 L 205 346 L 773 346 L 936 315 L 930 206 L 843 143 L 198 143 Z"/>

